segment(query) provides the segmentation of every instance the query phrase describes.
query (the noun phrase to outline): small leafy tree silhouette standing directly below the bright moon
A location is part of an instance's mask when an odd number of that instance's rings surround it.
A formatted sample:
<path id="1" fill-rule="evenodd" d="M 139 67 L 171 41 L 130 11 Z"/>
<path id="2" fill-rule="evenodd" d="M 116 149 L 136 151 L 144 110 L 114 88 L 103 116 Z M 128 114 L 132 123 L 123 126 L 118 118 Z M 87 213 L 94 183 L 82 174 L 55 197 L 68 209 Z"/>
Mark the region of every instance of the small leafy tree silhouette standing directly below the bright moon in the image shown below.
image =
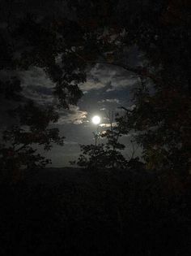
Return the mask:
<path id="1" fill-rule="evenodd" d="M 96 145 L 80 145 L 82 154 L 79 155 L 77 163 L 80 167 L 93 168 L 125 168 L 127 167 L 127 161 L 121 150 L 125 149 L 125 145 L 119 142 L 121 137 L 121 131 L 115 127 L 114 112 L 110 112 L 108 115 L 109 126 L 107 130 L 99 132 L 96 136 L 100 139 L 106 140 L 105 143 L 99 143 Z"/>

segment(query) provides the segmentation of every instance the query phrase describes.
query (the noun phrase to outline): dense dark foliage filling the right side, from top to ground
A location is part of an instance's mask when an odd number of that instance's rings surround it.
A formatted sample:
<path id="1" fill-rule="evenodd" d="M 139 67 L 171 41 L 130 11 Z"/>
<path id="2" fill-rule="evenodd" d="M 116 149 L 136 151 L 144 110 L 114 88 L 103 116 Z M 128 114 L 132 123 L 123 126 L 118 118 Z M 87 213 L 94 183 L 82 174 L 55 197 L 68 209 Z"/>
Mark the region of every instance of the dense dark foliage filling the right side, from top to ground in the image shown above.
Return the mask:
<path id="1" fill-rule="evenodd" d="M 137 3 L 126 5 L 121 24 L 127 31 L 125 45 L 136 43 L 148 63 L 139 73 L 139 86 L 134 93 L 136 107 L 127 110 L 126 124 L 121 121 L 125 132 L 129 128 L 138 132 L 137 141 L 142 145 L 147 168 L 188 175 L 190 2 L 142 2 L 134 15 L 131 10 Z"/>

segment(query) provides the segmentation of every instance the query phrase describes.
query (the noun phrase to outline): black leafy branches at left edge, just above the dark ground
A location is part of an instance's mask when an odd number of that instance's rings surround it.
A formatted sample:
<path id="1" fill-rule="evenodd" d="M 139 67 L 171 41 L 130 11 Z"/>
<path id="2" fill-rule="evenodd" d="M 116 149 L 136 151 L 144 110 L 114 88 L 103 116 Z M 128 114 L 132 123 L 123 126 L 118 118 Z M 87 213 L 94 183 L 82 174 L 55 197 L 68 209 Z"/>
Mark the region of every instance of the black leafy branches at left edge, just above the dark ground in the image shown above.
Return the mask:
<path id="1" fill-rule="evenodd" d="M 28 101 L 23 106 L 11 111 L 17 124 L 2 132 L 0 147 L 0 166 L 2 179 L 19 180 L 24 170 L 45 167 L 49 159 L 36 153 L 34 145 L 50 150 L 53 143 L 63 145 L 64 137 L 59 136 L 57 128 L 49 128 L 49 123 L 57 122 L 58 115 L 52 106 L 42 109 Z M 14 181 L 12 180 L 12 181 Z"/>

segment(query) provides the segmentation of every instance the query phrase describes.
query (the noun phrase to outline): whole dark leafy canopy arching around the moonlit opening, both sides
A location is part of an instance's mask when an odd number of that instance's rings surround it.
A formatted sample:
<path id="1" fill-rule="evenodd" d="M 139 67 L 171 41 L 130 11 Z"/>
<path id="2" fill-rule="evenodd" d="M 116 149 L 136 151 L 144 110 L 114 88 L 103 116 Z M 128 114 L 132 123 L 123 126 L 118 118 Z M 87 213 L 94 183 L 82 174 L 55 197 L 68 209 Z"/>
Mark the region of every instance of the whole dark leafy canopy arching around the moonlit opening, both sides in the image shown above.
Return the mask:
<path id="1" fill-rule="evenodd" d="M 20 94 L 19 76 L 6 79 L 1 76 L 1 97 L 17 101 L 15 116 L 19 119 L 16 128 L 11 127 L 2 137 L 4 142 L 8 141 L 6 149 L 10 145 L 12 149 L 19 143 L 24 145 L 20 133 L 22 137 L 28 136 L 23 131 L 26 126 L 31 135 L 35 133 L 27 140 L 28 145 L 37 143 L 49 149 L 52 142 L 62 143 L 58 131 L 48 128 L 49 122 L 58 118 L 53 112 L 57 107 L 77 104 L 83 96 L 79 84 L 86 81 L 88 68 L 105 63 L 125 68 L 138 77 L 139 85 L 134 93 L 136 107 L 126 111 L 128 121 L 123 122 L 123 132 L 129 129 L 137 132 L 146 166 L 188 173 L 190 2 L 70 0 L 67 5 L 74 14 L 73 19 L 45 13 L 27 14 L 15 18 L 13 23 L 6 15 L 6 26 L 1 29 L 0 37 L 1 71 L 17 74 L 30 67 L 40 67 L 53 81 L 53 95 L 57 98 L 54 106 L 40 111 L 40 106 L 32 103 L 33 113 L 45 116 L 43 127 L 36 127 L 39 120 L 28 112 L 31 103 L 26 103 Z M 127 63 L 125 49 L 130 46 L 137 46 L 144 55 L 141 66 Z M 26 113 L 24 117 L 20 115 L 21 110 Z M 4 146 L 1 152 L 5 152 Z M 28 154 L 28 148 L 25 150 Z"/>

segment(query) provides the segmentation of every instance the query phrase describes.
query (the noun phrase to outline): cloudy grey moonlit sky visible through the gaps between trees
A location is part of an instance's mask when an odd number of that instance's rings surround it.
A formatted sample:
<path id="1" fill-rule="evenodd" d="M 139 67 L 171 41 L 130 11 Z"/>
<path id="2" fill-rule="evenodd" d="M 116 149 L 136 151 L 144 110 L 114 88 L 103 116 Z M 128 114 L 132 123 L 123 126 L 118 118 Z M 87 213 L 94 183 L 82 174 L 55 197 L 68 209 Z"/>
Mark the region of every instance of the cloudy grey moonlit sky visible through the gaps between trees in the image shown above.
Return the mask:
<path id="1" fill-rule="evenodd" d="M 132 50 L 134 60 L 138 61 L 136 50 Z M 83 98 L 77 106 L 70 106 L 69 111 L 61 110 L 60 119 L 53 126 L 58 127 L 61 134 L 66 137 L 65 145 L 54 145 L 53 149 L 45 153 L 52 158 L 53 167 L 68 166 L 69 161 L 78 158 L 79 144 L 94 144 L 93 133 L 96 125 L 91 118 L 100 115 L 100 131 L 104 131 L 108 125 L 108 115 L 112 111 L 120 112 L 121 106 L 134 107 L 132 102 L 132 90 L 138 83 L 133 73 L 126 72 L 122 68 L 97 64 L 88 73 L 87 82 L 79 87 L 83 90 Z M 39 68 L 34 68 L 23 75 L 23 93 L 26 97 L 36 102 L 53 102 L 51 89 L 53 84 Z M 129 136 L 121 137 L 121 142 L 126 145 L 125 157 L 131 150 Z"/>

